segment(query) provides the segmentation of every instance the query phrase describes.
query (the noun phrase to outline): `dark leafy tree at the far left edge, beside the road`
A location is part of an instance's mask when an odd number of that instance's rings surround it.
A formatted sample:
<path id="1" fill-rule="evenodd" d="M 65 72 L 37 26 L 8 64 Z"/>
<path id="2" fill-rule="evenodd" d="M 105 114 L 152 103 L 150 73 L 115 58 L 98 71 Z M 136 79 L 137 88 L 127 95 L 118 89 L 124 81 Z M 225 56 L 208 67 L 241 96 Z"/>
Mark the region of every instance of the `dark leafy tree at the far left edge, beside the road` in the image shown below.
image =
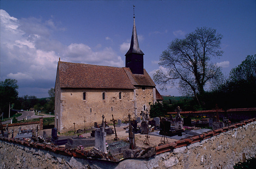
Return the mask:
<path id="1" fill-rule="evenodd" d="M 15 79 L 5 79 L 0 82 L 0 109 L 4 117 L 8 117 L 9 103 L 13 104 L 18 99 L 18 85 Z"/>

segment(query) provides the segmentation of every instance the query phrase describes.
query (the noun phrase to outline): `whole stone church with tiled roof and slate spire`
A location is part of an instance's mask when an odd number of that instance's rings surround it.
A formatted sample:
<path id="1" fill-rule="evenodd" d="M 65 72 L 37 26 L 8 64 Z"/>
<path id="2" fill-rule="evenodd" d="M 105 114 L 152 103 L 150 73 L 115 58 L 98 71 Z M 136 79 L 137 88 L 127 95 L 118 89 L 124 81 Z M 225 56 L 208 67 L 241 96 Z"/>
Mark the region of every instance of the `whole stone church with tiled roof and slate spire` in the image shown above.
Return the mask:
<path id="1" fill-rule="evenodd" d="M 55 127 L 60 132 L 91 127 L 112 119 L 140 117 L 149 102 L 162 101 L 156 85 L 143 67 L 135 17 L 125 67 L 58 62 L 55 82 Z M 84 122 L 86 121 L 86 122 Z"/>

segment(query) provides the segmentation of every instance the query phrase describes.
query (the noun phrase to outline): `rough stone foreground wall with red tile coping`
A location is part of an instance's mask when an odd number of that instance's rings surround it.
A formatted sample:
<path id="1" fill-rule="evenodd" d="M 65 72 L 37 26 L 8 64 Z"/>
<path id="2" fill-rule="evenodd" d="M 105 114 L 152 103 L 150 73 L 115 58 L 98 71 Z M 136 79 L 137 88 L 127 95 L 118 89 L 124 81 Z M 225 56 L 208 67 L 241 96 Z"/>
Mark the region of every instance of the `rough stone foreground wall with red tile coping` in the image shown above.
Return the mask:
<path id="1" fill-rule="evenodd" d="M 178 140 L 155 149 L 151 157 L 119 162 L 88 150 L 0 138 L 1 168 L 233 168 L 256 155 L 256 118 Z M 97 159 L 92 159 L 97 158 Z"/>

